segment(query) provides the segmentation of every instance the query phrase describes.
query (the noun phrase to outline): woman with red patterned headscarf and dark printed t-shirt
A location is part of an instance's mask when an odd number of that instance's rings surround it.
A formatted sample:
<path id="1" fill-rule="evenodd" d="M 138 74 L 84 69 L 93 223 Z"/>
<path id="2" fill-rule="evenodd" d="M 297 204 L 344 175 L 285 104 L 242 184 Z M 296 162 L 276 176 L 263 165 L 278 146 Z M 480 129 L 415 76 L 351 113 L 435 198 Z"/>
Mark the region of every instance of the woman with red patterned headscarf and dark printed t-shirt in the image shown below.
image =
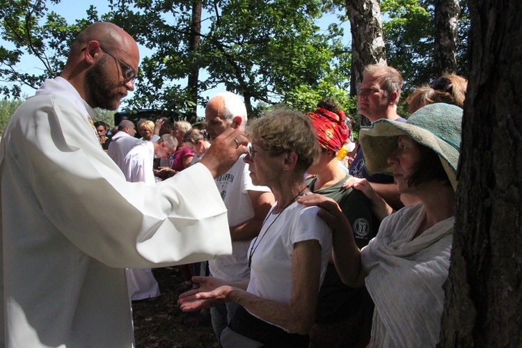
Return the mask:
<path id="1" fill-rule="evenodd" d="M 307 173 L 315 175 L 306 181 L 308 189 L 333 198 L 340 205 L 354 228 L 358 247 L 362 248 L 377 234 L 379 221 L 372 213 L 370 200 L 361 191 L 342 187 L 350 175 L 336 156 L 349 139 L 347 117 L 332 100 L 322 100 L 308 116 L 322 148 L 319 161 L 308 168 Z M 370 338 L 372 311 L 373 303 L 366 289 L 344 285 L 331 260 L 319 291 L 310 347 L 364 347 Z"/>

